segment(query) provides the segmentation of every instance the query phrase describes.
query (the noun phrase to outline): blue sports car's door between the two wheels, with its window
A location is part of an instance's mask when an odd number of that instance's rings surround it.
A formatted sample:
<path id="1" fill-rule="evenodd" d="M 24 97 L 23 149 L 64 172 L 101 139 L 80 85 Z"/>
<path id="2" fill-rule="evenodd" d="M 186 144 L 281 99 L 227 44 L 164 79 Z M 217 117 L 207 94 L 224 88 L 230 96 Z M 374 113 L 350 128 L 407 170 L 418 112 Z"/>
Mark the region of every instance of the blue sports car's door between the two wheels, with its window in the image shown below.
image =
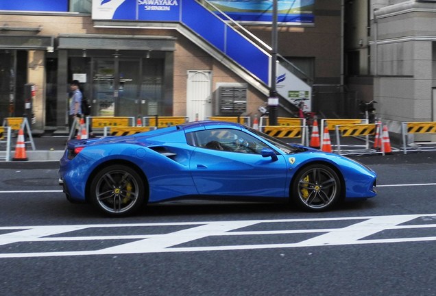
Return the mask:
<path id="1" fill-rule="evenodd" d="M 208 131 L 200 133 L 208 134 Z M 264 158 L 261 149 L 267 145 L 241 130 L 214 130 L 209 136 L 226 148 L 208 148 L 211 141 L 198 141 L 191 156 L 190 169 L 199 194 L 284 197 L 284 187 L 288 182 L 287 163 L 283 156 L 278 155 L 277 160 Z M 256 148 L 251 153 L 244 152 L 239 147 L 240 141 L 256 145 Z"/>

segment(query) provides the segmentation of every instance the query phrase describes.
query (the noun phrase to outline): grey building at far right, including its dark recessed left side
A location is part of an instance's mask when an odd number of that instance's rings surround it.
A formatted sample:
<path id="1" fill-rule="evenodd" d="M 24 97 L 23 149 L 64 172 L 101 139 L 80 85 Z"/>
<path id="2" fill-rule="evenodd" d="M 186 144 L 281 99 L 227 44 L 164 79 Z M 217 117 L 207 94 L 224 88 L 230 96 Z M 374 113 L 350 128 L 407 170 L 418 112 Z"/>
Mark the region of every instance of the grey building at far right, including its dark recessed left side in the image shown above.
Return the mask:
<path id="1" fill-rule="evenodd" d="M 393 134 L 436 120 L 436 1 L 346 1 L 346 77 Z M 365 21 L 366 20 L 366 21 Z M 432 140 L 431 136 L 416 136 Z"/>

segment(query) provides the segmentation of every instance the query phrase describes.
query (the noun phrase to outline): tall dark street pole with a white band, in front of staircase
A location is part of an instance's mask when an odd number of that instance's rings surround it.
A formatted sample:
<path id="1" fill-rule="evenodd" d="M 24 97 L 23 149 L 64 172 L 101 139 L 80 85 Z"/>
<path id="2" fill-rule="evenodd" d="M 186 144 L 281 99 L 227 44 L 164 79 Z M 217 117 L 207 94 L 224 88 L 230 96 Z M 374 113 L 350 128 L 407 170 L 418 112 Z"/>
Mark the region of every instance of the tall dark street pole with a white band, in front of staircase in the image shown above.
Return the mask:
<path id="1" fill-rule="evenodd" d="M 271 28 L 271 88 L 269 89 L 268 109 L 269 109 L 269 125 L 277 125 L 277 110 L 278 110 L 278 93 L 277 84 L 277 1 L 273 0 L 273 19 Z"/>

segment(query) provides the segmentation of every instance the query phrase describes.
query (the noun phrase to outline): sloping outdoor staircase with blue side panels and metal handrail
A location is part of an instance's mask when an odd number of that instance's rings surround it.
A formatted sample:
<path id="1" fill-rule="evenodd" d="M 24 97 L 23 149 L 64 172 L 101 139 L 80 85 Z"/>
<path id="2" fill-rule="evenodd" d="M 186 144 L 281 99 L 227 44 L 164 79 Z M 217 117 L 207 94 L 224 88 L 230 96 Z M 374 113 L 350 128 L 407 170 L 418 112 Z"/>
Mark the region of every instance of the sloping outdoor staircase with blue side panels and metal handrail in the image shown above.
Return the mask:
<path id="1" fill-rule="evenodd" d="M 175 17 L 171 20 L 152 21 L 136 16 L 136 21 L 132 22 L 123 21 L 125 18 L 103 17 L 95 20 L 94 25 L 175 29 L 221 64 L 227 66 L 247 84 L 260 91 L 265 95 L 266 101 L 271 85 L 271 47 L 207 0 L 179 0 L 176 7 L 178 13 L 172 14 Z M 173 8 L 175 7 L 171 7 Z M 116 9 L 115 7 L 114 10 Z M 219 12 L 219 15 L 215 12 Z M 118 22 L 105 20 L 118 20 Z M 306 79 L 302 71 L 284 58 L 279 58 L 278 62 L 282 65 L 278 68 L 286 72 L 287 79 L 290 79 L 293 84 L 311 88 L 311 82 Z M 288 113 L 293 114 L 297 110 L 291 99 L 280 92 L 279 104 L 282 110 Z"/>

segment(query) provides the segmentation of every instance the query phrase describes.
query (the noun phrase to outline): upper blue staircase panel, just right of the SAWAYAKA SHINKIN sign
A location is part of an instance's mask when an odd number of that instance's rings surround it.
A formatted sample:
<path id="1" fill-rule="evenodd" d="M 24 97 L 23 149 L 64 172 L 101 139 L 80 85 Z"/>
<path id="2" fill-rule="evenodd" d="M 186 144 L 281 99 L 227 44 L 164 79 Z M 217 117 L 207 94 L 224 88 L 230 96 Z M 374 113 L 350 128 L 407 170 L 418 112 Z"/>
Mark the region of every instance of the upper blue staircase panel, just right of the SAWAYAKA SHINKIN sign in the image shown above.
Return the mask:
<path id="1" fill-rule="evenodd" d="M 224 51 L 226 24 L 195 0 L 184 0 L 182 5 L 182 23 Z"/>

